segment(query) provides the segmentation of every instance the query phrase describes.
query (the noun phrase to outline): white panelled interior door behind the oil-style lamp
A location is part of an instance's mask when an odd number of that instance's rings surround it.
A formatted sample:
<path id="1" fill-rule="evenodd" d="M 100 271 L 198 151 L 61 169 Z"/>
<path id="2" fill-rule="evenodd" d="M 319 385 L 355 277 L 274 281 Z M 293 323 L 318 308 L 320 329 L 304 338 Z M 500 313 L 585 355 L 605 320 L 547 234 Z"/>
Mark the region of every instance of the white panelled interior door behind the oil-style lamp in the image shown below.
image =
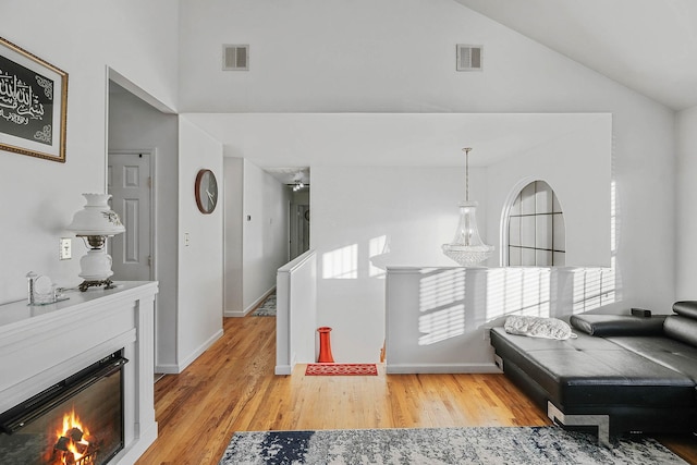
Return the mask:
<path id="1" fill-rule="evenodd" d="M 111 208 L 126 231 L 111 237 L 113 280 L 150 281 L 151 245 L 151 155 L 109 152 L 108 188 Z"/>

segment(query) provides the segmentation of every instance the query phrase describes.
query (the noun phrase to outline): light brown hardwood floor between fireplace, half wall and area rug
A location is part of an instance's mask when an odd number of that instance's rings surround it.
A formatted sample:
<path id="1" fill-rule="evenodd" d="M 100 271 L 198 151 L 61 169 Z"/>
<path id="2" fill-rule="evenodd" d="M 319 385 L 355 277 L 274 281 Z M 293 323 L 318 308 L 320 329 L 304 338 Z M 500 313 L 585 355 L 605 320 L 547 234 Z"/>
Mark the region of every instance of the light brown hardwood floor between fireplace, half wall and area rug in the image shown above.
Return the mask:
<path id="1" fill-rule="evenodd" d="M 274 364 L 276 318 L 227 318 L 211 348 L 156 383 L 159 437 L 137 464 L 217 464 L 235 431 L 550 424 L 503 375 L 283 377 Z M 697 463 L 693 438 L 670 441 Z"/>

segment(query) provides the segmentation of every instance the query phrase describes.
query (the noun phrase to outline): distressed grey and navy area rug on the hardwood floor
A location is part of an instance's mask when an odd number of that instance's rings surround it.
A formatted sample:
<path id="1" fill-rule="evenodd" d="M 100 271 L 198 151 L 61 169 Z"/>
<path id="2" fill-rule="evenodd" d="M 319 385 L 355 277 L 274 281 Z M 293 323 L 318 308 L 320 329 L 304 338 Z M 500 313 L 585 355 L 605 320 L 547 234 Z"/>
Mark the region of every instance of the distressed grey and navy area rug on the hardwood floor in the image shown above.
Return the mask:
<path id="1" fill-rule="evenodd" d="M 650 438 L 612 439 L 558 427 L 254 431 L 233 436 L 232 464 L 685 464 Z"/>

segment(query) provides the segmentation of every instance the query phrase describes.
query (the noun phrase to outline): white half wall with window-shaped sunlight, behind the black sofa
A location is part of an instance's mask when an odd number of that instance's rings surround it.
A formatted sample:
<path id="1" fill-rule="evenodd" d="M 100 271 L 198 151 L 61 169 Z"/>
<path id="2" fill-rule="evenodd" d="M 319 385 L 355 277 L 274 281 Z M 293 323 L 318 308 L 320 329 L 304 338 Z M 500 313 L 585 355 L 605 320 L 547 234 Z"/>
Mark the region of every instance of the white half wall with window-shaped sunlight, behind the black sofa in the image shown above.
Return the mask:
<path id="1" fill-rule="evenodd" d="M 503 326 L 510 315 L 568 321 L 574 314 L 597 308 L 604 272 L 565 267 L 389 267 L 387 372 L 500 372 L 490 328 Z M 607 282 L 604 298 L 612 301 L 614 282 Z"/>

